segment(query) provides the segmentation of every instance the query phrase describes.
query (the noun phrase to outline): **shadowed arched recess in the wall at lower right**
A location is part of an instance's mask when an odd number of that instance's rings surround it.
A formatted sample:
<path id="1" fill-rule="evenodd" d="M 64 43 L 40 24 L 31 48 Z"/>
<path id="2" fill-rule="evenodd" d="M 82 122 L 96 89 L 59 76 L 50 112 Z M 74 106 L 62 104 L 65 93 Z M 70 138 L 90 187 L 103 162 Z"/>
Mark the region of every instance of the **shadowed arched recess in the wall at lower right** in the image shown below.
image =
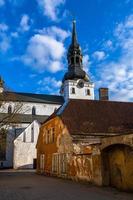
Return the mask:
<path id="1" fill-rule="evenodd" d="M 133 149 L 116 144 L 102 151 L 103 185 L 133 191 Z"/>

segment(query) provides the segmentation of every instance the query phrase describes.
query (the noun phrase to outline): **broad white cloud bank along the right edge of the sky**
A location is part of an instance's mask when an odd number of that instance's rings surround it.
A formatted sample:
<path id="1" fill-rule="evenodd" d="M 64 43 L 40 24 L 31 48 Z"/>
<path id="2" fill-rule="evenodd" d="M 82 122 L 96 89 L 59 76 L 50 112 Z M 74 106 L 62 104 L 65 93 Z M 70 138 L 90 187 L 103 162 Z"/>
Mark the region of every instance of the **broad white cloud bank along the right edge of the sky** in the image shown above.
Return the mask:
<path id="1" fill-rule="evenodd" d="M 98 86 L 107 86 L 112 91 L 112 99 L 133 101 L 133 15 L 117 25 L 114 31 L 116 50 L 120 50 L 117 61 L 102 63 Z"/>

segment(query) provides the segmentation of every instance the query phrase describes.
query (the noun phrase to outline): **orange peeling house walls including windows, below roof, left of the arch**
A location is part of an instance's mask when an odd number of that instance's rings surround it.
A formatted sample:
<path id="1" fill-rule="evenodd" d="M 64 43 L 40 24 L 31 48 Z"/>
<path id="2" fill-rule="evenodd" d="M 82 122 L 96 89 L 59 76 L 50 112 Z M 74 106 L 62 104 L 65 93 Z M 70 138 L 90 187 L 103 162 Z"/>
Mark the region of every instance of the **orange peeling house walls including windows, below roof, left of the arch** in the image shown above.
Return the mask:
<path id="1" fill-rule="evenodd" d="M 46 122 L 41 127 L 37 143 L 37 171 L 91 182 L 92 147 L 80 143 L 73 143 L 67 127 L 58 116 Z"/>

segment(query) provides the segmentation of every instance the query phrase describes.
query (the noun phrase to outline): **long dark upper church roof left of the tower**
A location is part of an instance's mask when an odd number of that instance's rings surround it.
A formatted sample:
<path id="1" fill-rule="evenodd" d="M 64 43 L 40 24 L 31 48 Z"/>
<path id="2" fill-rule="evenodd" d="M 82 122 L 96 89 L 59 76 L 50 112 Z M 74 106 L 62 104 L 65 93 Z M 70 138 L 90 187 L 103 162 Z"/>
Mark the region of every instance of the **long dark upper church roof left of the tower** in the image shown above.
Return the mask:
<path id="1" fill-rule="evenodd" d="M 32 94 L 20 92 L 4 92 L 4 94 L 0 94 L 0 100 L 60 105 L 64 102 L 63 97 L 58 95 Z"/>

